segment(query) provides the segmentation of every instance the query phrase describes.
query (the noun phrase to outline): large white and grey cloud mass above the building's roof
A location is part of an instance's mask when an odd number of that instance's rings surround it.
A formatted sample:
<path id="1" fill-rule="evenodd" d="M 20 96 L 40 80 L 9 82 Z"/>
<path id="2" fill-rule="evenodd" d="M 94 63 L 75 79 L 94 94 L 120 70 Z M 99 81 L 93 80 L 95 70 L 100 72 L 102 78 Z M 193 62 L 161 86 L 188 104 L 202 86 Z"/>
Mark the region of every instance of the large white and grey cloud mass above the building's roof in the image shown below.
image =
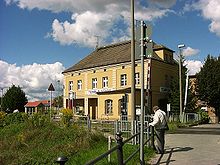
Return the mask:
<path id="1" fill-rule="evenodd" d="M 135 1 L 135 19 L 146 21 L 160 19 L 172 12 L 167 7 L 171 7 L 175 2 L 176 0 L 166 2 L 157 0 L 155 1 L 157 5 L 152 5 L 153 2 L 148 4 L 145 1 L 143 6 L 139 1 Z M 103 43 L 130 36 L 130 1 L 127 0 L 6 0 L 6 3 L 8 5 L 15 3 L 20 8 L 28 10 L 36 8 L 51 12 L 72 13 L 71 21 L 54 19 L 52 31 L 45 34 L 46 37 L 50 36 L 62 45 L 77 43 L 95 47 L 96 36 L 99 36 Z M 123 33 L 121 33 L 122 30 Z"/>

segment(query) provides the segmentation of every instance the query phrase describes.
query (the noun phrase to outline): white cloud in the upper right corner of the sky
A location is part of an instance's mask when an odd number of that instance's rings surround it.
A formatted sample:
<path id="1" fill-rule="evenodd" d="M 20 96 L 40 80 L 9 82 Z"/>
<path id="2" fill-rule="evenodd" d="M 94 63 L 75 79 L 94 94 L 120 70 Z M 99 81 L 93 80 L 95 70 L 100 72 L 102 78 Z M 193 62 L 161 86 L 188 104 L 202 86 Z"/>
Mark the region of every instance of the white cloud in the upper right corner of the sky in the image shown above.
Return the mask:
<path id="1" fill-rule="evenodd" d="M 220 1 L 199 0 L 185 6 L 185 11 L 198 10 L 203 18 L 211 21 L 209 30 L 220 36 Z"/>

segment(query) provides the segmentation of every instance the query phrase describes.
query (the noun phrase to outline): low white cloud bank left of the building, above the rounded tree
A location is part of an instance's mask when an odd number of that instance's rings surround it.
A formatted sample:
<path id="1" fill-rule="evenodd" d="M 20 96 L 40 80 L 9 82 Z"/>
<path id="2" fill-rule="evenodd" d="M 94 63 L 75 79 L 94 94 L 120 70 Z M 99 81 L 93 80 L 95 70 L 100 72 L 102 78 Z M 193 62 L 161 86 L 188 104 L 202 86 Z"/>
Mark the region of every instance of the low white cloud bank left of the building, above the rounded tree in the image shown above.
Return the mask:
<path id="1" fill-rule="evenodd" d="M 64 70 L 60 62 L 54 64 L 32 64 L 21 67 L 0 60 L 0 87 L 19 85 L 29 100 L 49 99 L 48 86 L 52 82 L 56 88 L 62 84 Z"/>

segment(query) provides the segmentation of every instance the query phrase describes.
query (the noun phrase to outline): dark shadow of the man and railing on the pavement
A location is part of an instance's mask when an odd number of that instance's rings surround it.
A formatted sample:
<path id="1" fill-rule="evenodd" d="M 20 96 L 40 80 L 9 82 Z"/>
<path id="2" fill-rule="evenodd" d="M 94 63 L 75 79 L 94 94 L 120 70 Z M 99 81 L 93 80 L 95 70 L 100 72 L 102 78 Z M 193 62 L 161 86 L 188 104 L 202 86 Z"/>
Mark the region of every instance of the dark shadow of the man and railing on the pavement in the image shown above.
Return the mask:
<path id="1" fill-rule="evenodd" d="M 169 151 L 165 151 L 165 154 L 161 154 L 159 159 L 157 160 L 156 164 L 154 165 L 159 165 L 159 164 L 166 164 L 168 165 L 170 162 L 174 162 L 175 160 L 171 160 L 172 154 L 174 152 L 186 152 L 186 151 L 190 151 L 193 150 L 192 147 L 175 147 L 175 148 L 171 148 Z M 167 157 L 167 159 L 164 161 L 162 161 L 163 157 Z"/>

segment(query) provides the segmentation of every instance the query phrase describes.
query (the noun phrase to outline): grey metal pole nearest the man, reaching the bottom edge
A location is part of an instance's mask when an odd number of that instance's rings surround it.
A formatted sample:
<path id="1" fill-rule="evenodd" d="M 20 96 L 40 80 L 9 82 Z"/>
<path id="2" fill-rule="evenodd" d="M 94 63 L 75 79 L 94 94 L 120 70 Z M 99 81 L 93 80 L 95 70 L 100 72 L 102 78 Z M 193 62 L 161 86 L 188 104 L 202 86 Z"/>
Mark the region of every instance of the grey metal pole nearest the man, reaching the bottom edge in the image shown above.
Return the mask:
<path id="1" fill-rule="evenodd" d="M 144 164 L 144 21 L 141 21 L 141 132 L 140 132 L 140 164 Z"/>

